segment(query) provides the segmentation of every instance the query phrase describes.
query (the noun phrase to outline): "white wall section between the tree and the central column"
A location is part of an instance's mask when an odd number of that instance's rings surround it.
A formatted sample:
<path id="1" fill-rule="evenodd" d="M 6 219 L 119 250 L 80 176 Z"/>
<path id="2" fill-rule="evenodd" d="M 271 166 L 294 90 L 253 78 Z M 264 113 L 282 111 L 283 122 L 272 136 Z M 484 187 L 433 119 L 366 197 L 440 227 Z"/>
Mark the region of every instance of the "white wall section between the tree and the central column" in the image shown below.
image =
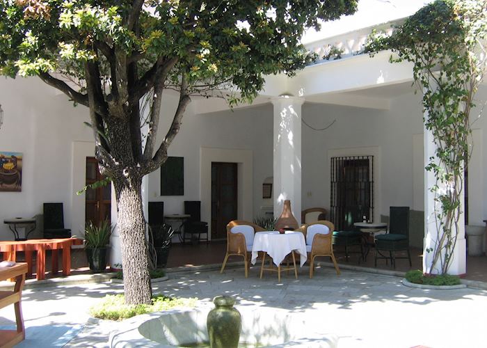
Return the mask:
<path id="1" fill-rule="evenodd" d="M 202 200 L 202 205 L 209 204 L 200 196 L 200 149 L 250 150 L 253 152 L 253 212 L 247 212 L 246 216 L 257 215 L 263 205 L 262 182 L 273 175 L 272 115 L 270 103 L 252 109 L 186 114 L 179 134 L 168 150 L 169 156 L 184 157 L 184 196 L 160 196 L 161 174 L 158 170 L 149 176 L 149 199 L 163 200 L 165 214 L 182 214 L 184 200 Z M 159 132 L 162 137 L 166 127 Z M 205 213 L 203 210 L 202 214 Z M 202 216 L 202 219 L 209 221 L 209 216 Z"/>

